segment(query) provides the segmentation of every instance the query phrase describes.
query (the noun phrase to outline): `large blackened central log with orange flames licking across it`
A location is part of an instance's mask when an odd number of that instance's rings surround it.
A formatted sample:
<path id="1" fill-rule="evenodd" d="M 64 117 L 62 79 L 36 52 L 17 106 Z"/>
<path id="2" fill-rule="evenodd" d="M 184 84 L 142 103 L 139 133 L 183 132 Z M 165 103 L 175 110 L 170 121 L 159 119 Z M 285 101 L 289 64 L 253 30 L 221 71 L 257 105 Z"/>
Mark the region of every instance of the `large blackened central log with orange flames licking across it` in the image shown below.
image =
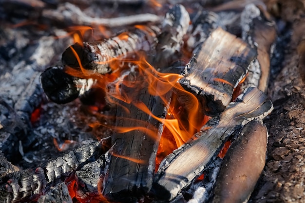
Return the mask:
<path id="1" fill-rule="evenodd" d="M 126 103 L 116 101 L 115 126 L 122 132 L 111 136 L 114 146 L 111 148 L 110 162 L 106 162 L 105 166 L 103 195 L 118 202 L 133 202 L 138 196 L 147 194 L 152 187 L 163 124 L 150 114 L 165 118 L 171 91 L 161 99 L 148 92 L 147 83 L 145 76 L 131 72 L 121 84 L 120 95 L 128 95 Z M 158 90 L 164 87 L 157 82 L 154 88 Z M 150 114 L 139 109 L 144 105 Z"/>

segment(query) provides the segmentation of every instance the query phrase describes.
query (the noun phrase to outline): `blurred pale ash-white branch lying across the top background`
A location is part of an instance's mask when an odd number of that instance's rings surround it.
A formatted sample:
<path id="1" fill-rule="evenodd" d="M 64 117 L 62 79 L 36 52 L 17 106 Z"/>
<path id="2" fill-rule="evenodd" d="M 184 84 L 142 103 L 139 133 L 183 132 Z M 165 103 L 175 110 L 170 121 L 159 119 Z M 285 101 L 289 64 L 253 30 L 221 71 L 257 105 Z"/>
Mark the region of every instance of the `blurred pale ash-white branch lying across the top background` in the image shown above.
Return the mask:
<path id="1" fill-rule="evenodd" d="M 133 16 L 124 16 L 117 18 L 93 18 L 86 15 L 76 5 L 65 2 L 56 10 L 42 10 L 42 17 L 56 21 L 66 26 L 73 25 L 102 25 L 106 27 L 119 27 L 126 25 L 142 24 L 142 23 L 158 23 L 161 21 L 159 16 L 154 14 L 138 14 Z"/>

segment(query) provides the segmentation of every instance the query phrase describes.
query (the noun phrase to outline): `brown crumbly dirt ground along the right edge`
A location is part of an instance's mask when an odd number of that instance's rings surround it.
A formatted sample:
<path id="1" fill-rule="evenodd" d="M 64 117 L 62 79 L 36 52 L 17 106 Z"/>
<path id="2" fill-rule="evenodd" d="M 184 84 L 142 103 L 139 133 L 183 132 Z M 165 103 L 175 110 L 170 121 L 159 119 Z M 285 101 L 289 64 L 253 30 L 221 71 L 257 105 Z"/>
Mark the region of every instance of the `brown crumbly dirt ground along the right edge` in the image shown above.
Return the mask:
<path id="1" fill-rule="evenodd" d="M 291 32 L 291 36 L 286 45 L 282 43 L 284 61 L 272 67 L 268 95 L 274 111 L 265 120 L 270 135 L 267 161 L 249 202 L 305 203 L 305 1 L 268 0 L 266 4 L 290 27 L 282 34 Z"/>

